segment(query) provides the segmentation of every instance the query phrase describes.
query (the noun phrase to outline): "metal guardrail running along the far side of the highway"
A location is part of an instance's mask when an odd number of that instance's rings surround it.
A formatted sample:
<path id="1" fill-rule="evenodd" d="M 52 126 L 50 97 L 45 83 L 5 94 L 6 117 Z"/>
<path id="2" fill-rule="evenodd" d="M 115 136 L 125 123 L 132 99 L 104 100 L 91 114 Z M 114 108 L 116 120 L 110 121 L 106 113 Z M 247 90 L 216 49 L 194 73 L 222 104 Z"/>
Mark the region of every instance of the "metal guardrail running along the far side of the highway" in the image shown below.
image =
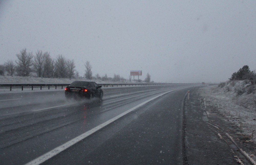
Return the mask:
<path id="1" fill-rule="evenodd" d="M 98 84 L 101 85 L 102 87 L 109 87 L 109 86 L 145 86 L 145 85 L 170 85 L 171 83 L 141 83 L 141 84 L 134 84 L 134 83 L 129 83 L 129 84 Z M 12 91 L 12 87 L 21 87 L 21 90 L 23 91 L 24 87 L 30 87 L 31 90 L 33 90 L 33 87 L 40 87 L 40 90 L 42 90 L 42 87 L 48 86 L 48 90 L 50 87 L 54 87 L 57 89 L 57 86 L 61 86 L 61 89 L 63 89 L 63 86 L 68 86 L 69 84 L 53 84 L 53 83 L 12 83 L 12 84 L 7 84 L 7 83 L 1 83 L 0 87 L 10 87 L 10 91 Z"/>

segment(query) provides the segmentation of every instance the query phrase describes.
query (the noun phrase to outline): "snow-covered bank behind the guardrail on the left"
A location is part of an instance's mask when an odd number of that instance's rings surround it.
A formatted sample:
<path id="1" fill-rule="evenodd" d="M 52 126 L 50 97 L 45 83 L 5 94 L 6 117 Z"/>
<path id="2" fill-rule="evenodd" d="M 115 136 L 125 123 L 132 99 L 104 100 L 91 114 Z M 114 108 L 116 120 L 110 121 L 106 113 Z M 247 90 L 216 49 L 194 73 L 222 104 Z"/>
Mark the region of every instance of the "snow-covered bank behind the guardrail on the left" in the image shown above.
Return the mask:
<path id="1" fill-rule="evenodd" d="M 68 79 L 68 78 L 40 78 L 40 77 L 33 77 L 33 76 L 1 76 L 0 75 L 0 83 L 63 83 L 69 84 L 76 80 L 87 80 L 85 78 L 78 78 L 78 79 Z M 113 82 L 113 81 L 101 81 L 101 80 L 92 80 L 96 83 L 128 83 L 128 82 Z M 137 82 L 131 82 L 137 83 Z"/>

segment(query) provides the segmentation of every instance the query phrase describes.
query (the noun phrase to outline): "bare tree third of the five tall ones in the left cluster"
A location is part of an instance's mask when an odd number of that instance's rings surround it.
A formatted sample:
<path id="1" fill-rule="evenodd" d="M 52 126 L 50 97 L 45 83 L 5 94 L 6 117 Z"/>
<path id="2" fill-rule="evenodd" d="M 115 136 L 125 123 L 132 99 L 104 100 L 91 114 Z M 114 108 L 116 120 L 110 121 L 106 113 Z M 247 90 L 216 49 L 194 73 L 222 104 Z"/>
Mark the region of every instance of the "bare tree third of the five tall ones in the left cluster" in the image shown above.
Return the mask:
<path id="1" fill-rule="evenodd" d="M 51 58 L 49 52 L 45 52 L 43 55 L 43 71 L 42 76 L 46 78 L 52 78 L 54 76 L 54 59 Z"/>

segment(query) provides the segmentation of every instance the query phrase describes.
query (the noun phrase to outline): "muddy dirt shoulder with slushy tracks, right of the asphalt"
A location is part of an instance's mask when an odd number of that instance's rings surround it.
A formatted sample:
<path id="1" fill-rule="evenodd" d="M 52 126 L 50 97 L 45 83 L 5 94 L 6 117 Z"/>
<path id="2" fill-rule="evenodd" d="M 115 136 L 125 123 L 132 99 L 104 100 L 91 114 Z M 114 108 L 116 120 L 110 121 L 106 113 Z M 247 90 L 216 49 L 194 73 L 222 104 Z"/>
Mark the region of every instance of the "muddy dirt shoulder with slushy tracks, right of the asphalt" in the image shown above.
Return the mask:
<path id="1" fill-rule="evenodd" d="M 206 97 L 209 90 L 194 88 L 184 103 L 185 164 L 254 163 L 254 142 L 220 112 L 213 98 Z"/>

